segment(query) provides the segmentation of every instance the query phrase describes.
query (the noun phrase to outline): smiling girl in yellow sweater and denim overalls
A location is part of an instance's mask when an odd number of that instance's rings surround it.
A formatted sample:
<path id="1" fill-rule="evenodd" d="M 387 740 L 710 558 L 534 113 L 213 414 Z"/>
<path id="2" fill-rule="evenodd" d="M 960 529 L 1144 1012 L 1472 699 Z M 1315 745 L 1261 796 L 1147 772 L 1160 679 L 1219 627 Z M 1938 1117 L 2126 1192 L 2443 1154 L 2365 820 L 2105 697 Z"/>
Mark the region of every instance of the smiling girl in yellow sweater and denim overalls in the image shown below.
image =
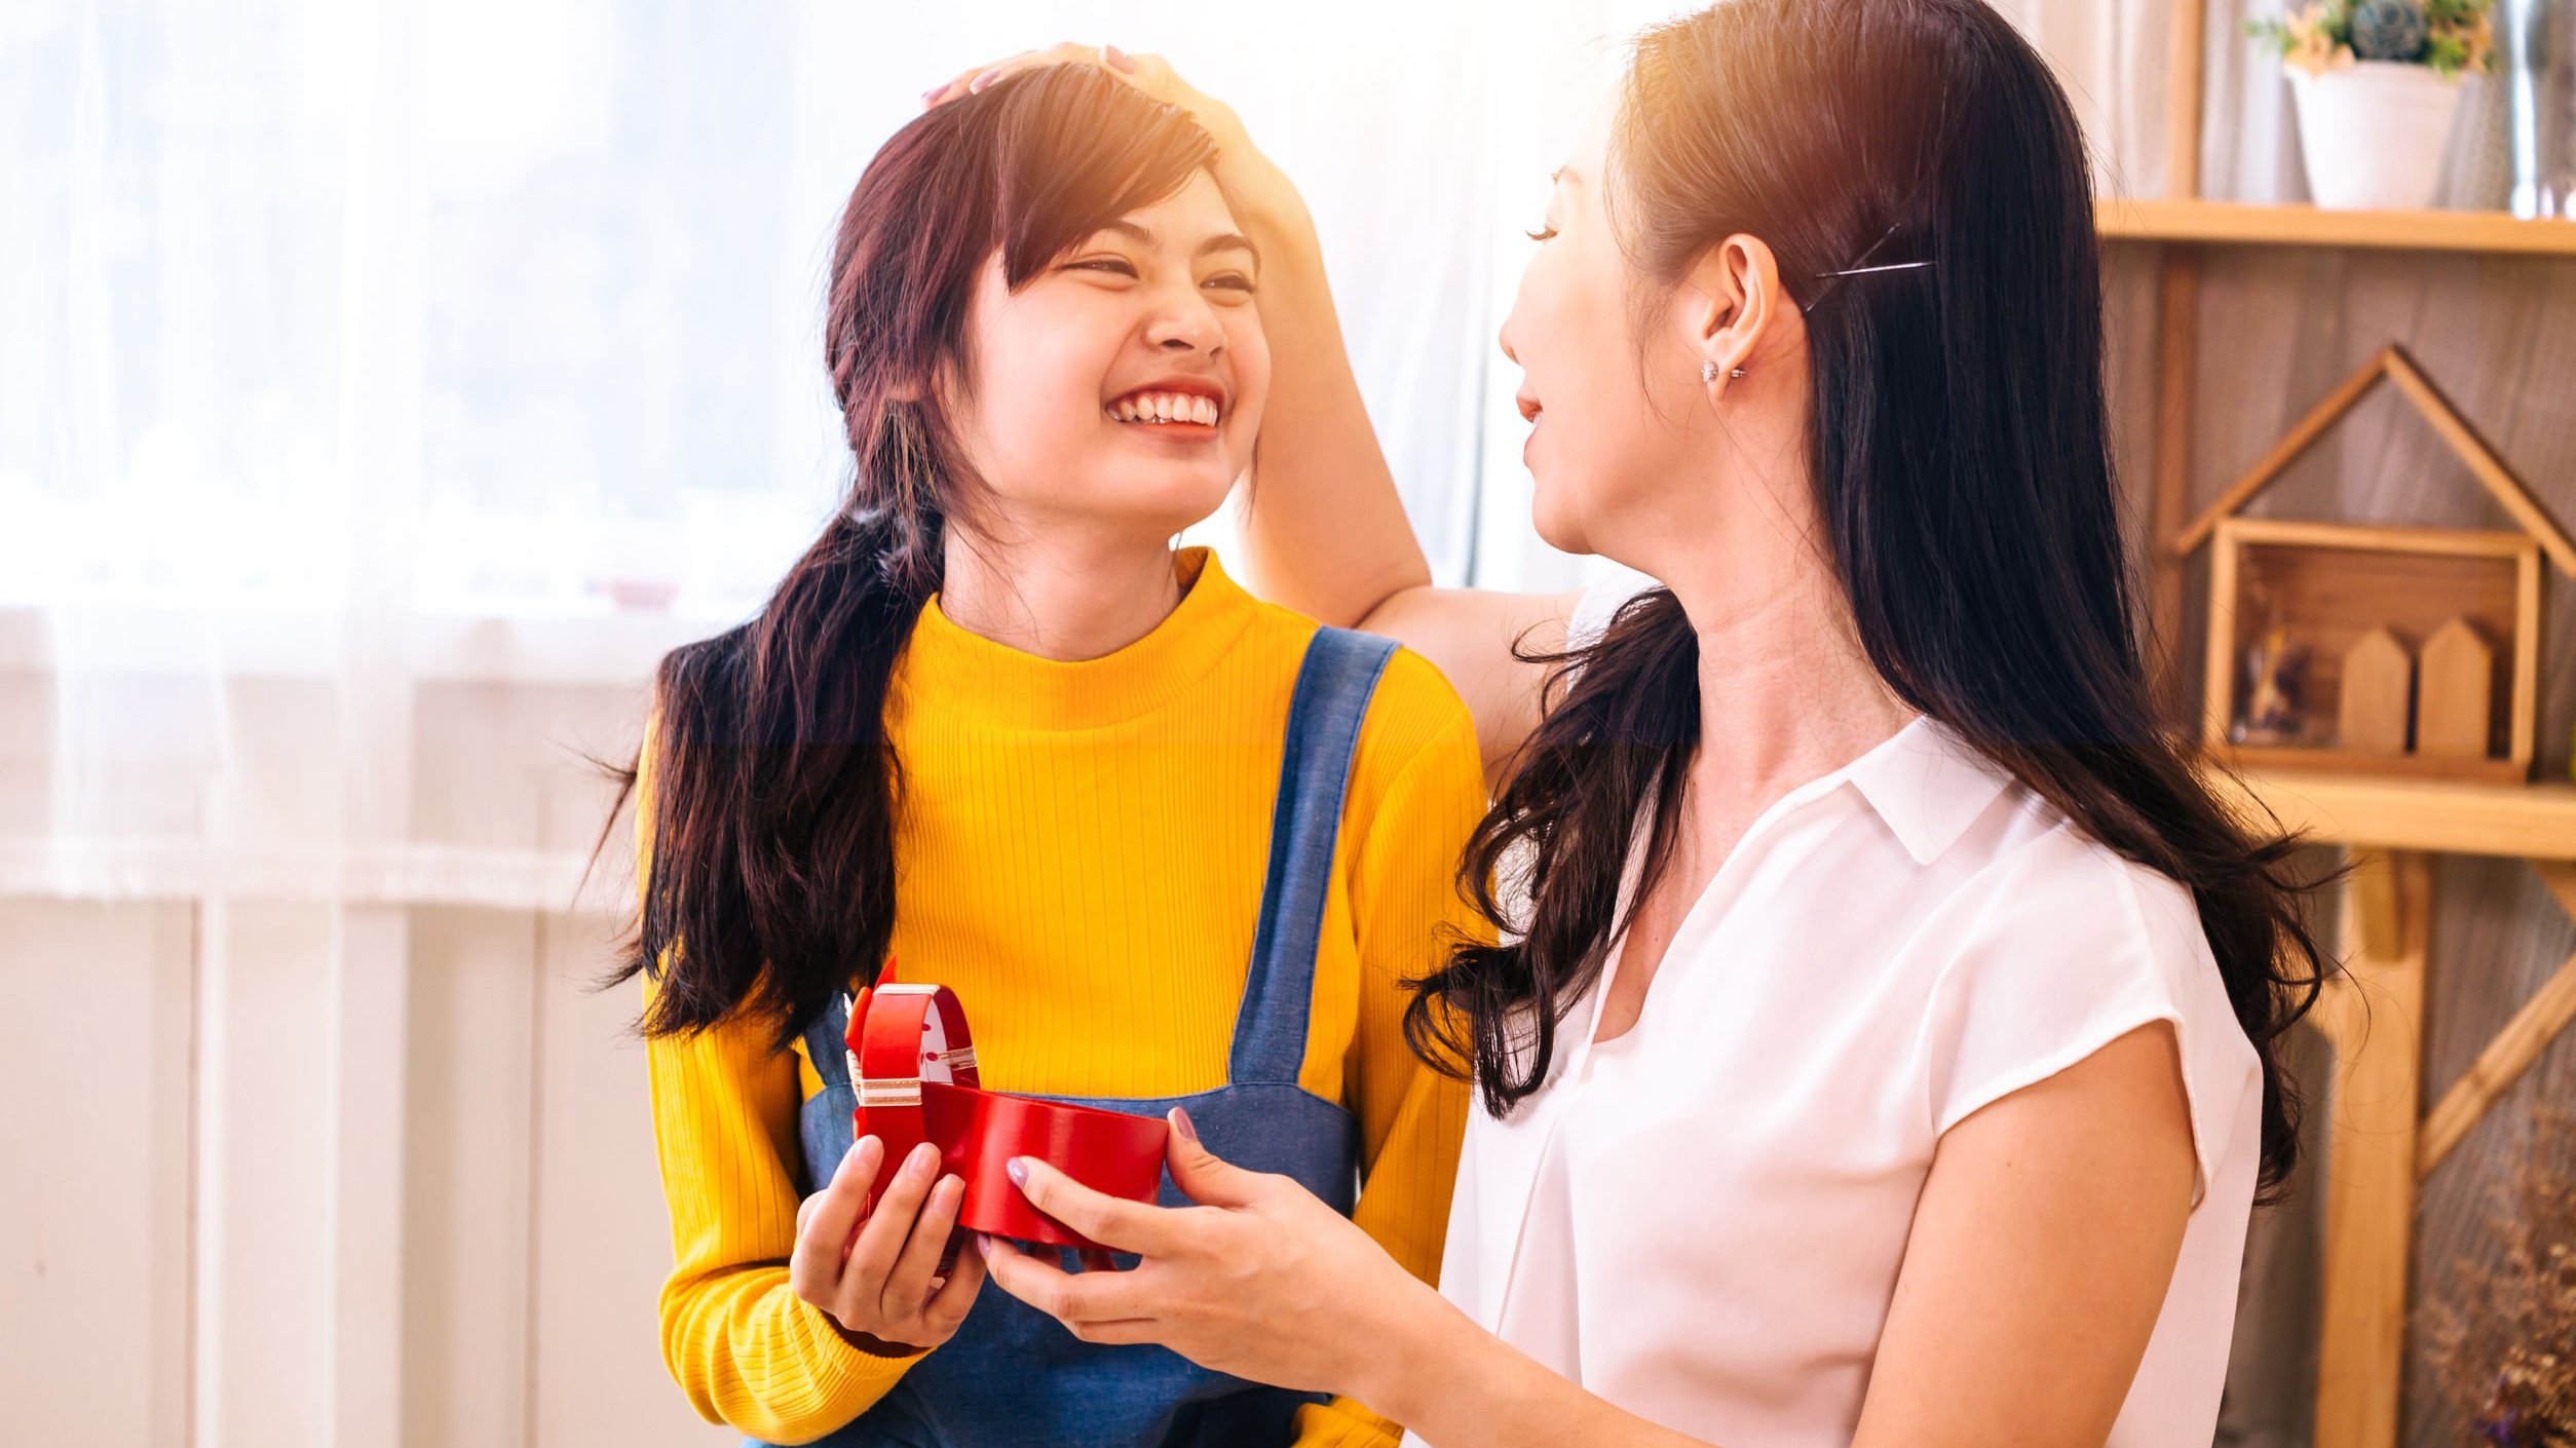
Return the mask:
<path id="1" fill-rule="evenodd" d="M 1432 1278 L 1463 1087 L 1404 982 L 1468 928 L 1473 724 L 1414 654 L 1172 533 L 1252 459 L 1260 258 L 1208 137 L 1090 67 L 917 119 L 842 216 L 855 451 L 636 757 L 672 1376 L 775 1443 L 1391 1443 L 1350 1402 L 1077 1342 L 966 1252 L 938 1152 L 850 1141 L 842 992 L 966 1002 L 984 1085 L 1154 1113 Z M 871 1188 L 881 1203 L 866 1219 Z M 1177 1201 L 1170 1198 L 1167 1201 Z"/>

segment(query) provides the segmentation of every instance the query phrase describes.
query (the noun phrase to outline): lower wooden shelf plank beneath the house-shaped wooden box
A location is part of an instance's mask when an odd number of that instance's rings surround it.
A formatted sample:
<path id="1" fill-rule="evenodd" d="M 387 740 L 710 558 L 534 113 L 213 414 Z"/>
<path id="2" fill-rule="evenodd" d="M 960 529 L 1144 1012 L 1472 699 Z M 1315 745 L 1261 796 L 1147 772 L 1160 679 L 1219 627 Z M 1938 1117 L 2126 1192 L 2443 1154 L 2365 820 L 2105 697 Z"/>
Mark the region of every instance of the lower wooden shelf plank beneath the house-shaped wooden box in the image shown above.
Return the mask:
<path id="1" fill-rule="evenodd" d="M 2331 770 L 2210 770 L 2236 809 L 2259 801 L 2329 845 L 2576 861 L 2576 786 L 2380 778 Z"/>

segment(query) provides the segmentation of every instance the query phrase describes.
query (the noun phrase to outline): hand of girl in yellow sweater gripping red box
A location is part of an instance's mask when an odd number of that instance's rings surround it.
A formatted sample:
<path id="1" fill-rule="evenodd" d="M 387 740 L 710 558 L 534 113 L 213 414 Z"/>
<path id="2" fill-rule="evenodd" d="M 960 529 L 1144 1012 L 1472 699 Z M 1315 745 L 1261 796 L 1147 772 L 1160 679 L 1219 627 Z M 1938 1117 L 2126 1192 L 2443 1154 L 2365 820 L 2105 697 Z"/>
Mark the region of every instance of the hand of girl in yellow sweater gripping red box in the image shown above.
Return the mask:
<path id="1" fill-rule="evenodd" d="M 832 1317 L 855 1348 L 907 1355 L 948 1342 L 966 1322 L 984 1286 L 984 1257 L 958 1252 L 956 1268 L 938 1275 L 966 1183 L 940 1175 L 940 1152 L 927 1141 L 860 1221 L 884 1154 L 884 1141 L 860 1136 L 832 1180 L 796 1208 L 788 1288 Z"/>

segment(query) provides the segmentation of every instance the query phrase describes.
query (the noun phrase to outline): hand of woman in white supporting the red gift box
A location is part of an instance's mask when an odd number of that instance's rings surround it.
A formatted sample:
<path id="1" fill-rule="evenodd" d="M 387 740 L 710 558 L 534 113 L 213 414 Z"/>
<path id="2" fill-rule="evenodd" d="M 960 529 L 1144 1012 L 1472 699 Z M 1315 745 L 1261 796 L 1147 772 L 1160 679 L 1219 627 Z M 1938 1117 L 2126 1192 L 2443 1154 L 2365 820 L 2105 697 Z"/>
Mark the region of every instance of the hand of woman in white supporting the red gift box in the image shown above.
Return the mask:
<path id="1" fill-rule="evenodd" d="M 1121 1201 L 1015 1159 L 1038 1211 L 1144 1262 L 1077 1275 L 984 1239 L 994 1286 L 1084 1342 L 1162 1342 L 1218 1373 L 1373 1402 L 1440 1296 L 1296 1180 L 1221 1162 L 1185 1110 L 1170 1118 L 1167 1162 L 1198 1206 Z"/>

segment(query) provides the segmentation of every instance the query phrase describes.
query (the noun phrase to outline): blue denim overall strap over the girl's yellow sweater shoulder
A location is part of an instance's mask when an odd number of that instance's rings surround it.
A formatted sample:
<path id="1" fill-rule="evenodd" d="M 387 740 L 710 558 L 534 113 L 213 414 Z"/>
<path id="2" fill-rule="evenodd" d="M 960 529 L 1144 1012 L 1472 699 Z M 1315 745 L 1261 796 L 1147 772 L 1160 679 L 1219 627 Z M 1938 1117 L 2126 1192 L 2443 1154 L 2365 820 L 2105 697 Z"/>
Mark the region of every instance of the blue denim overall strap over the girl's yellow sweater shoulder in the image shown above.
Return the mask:
<path id="1" fill-rule="evenodd" d="M 1252 966 L 1234 1018 L 1229 1077 L 1236 1085 L 1296 1085 L 1306 1062 L 1306 1013 L 1314 1002 L 1314 948 L 1324 930 L 1334 840 L 1360 721 L 1378 691 L 1394 639 L 1350 629 L 1316 629 L 1288 698 L 1288 752 L 1270 809 L 1270 871 L 1262 917 L 1252 930 Z"/>

